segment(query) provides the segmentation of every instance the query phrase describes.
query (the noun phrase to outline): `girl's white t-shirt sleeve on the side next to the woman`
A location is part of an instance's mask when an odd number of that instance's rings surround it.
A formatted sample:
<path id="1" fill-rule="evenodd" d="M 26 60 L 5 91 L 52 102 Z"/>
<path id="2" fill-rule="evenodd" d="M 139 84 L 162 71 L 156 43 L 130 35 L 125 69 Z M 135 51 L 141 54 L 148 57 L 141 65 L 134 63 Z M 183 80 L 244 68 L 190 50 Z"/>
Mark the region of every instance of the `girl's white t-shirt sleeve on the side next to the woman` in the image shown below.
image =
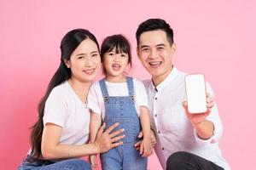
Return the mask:
<path id="1" fill-rule="evenodd" d="M 98 83 L 98 82 L 96 82 L 96 83 Z M 99 96 L 97 95 L 97 91 L 101 90 L 101 89 L 97 89 L 97 85 L 99 85 L 99 84 L 96 84 L 96 83 L 92 84 L 90 87 L 90 90 L 89 90 L 89 93 L 87 96 L 87 107 L 91 111 L 95 112 L 96 114 L 101 115 L 102 109 L 101 109 L 100 102 L 98 99 Z"/>

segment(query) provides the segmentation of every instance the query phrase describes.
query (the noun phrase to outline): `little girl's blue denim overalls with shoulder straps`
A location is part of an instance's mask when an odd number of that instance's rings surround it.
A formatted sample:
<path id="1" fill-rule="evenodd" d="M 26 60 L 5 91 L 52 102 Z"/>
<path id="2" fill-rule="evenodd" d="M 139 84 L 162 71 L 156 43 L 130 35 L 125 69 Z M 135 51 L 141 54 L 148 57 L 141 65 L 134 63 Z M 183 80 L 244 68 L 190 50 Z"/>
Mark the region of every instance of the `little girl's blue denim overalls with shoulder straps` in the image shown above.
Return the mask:
<path id="1" fill-rule="evenodd" d="M 100 87 L 105 104 L 104 122 L 107 128 L 119 122 L 118 128 L 125 128 L 123 145 L 101 154 L 103 170 L 146 170 L 148 159 L 142 157 L 136 150 L 138 133 L 141 130 L 140 120 L 134 105 L 134 90 L 131 77 L 126 77 L 129 96 L 108 96 L 105 78 L 100 81 Z"/>

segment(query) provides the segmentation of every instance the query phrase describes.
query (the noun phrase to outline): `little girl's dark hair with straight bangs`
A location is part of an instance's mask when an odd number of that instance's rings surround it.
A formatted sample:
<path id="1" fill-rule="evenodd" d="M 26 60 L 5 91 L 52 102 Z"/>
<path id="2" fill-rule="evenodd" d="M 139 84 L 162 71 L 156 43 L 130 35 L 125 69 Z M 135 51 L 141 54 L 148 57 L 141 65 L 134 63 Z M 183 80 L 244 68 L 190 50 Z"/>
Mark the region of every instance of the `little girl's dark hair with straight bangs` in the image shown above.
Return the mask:
<path id="1" fill-rule="evenodd" d="M 104 54 L 113 51 L 115 49 L 115 53 L 125 53 L 128 54 L 128 65 L 132 65 L 131 62 L 131 45 L 130 42 L 127 40 L 126 37 L 124 37 L 121 34 L 118 35 L 113 35 L 106 37 L 104 41 L 102 42 L 102 47 L 101 47 L 101 59 L 102 62 L 104 62 Z M 106 69 L 104 65 L 103 67 L 103 73 L 106 75 Z"/>

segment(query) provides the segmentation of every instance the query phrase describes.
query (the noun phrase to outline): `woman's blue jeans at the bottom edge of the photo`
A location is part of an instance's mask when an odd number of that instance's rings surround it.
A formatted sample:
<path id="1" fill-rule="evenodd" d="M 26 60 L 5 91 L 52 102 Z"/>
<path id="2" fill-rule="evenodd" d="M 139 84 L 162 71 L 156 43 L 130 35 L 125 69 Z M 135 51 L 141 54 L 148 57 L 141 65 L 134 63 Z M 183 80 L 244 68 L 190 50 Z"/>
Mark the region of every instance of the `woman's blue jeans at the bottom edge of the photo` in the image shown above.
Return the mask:
<path id="1" fill-rule="evenodd" d="M 82 159 L 67 159 L 64 161 L 48 161 L 27 156 L 18 170 L 91 170 L 90 164 Z"/>

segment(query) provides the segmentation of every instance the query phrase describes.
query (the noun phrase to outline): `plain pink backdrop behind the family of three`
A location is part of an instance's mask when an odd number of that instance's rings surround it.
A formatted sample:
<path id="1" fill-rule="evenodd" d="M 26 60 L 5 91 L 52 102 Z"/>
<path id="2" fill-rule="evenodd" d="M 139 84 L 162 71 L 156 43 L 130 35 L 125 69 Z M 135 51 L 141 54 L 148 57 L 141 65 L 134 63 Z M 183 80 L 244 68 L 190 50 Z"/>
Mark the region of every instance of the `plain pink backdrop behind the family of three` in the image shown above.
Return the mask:
<path id="1" fill-rule="evenodd" d="M 14 1 L 0 2 L 0 169 L 15 169 L 29 149 L 38 100 L 60 61 L 61 37 L 86 28 L 99 42 L 123 33 L 132 44 L 131 75 L 148 78 L 136 56 L 135 31 L 148 18 L 167 20 L 175 32 L 180 70 L 204 72 L 212 84 L 232 169 L 253 169 L 255 138 L 255 7 L 233 1 Z M 253 73 L 254 72 L 254 73 Z M 148 169 L 160 169 L 155 156 Z"/>

